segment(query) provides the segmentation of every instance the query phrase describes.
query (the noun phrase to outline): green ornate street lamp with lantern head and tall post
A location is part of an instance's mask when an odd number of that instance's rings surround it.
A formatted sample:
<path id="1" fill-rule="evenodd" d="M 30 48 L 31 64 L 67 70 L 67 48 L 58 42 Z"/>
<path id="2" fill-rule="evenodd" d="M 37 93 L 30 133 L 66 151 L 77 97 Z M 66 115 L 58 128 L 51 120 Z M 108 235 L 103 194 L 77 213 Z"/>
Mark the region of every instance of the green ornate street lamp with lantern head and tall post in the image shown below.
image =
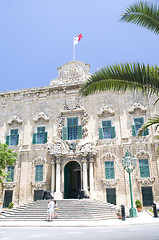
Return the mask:
<path id="1" fill-rule="evenodd" d="M 131 185 L 131 173 L 134 171 L 136 165 L 137 165 L 137 160 L 135 156 L 132 156 L 131 153 L 128 151 L 123 157 L 122 160 L 122 165 L 124 169 L 129 173 L 129 185 L 130 185 L 130 196 L 131 196 L 131 208 L 129 209 L 129 214 L 130 217 L 136 217 L 136 209 L 133 207 L 133 196 L 132 196 L 132 185 Z"/>

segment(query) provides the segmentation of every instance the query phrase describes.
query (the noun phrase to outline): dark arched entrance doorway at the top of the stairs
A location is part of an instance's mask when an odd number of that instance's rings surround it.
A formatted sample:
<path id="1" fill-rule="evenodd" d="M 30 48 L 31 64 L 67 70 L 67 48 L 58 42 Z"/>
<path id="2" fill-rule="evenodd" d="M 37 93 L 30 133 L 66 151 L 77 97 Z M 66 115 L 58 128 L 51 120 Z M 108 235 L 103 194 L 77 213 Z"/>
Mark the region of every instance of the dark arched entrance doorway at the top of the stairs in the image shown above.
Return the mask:
<path id="1" fill-rule="evenodd" d="M 81 168 L 72 161 L 64 168 L 64 198 L 78 198 L 81 190 Z"/>

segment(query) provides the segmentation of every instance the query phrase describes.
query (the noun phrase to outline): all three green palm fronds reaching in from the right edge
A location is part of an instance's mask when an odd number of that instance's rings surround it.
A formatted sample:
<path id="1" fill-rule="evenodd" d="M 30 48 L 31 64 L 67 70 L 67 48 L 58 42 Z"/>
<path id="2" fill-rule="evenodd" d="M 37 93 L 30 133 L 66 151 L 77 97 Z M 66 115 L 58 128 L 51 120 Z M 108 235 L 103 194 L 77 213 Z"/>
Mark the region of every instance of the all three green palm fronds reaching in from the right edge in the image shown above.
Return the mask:
<path id="1" fill-rule="evenodd" d="M 154 3 L 139 2 L 128 7 L 121 21 L 135 23 L 159 34 L 159 7 Z M 159 68 L 139 63 L 124 63 L 106 66 L 95 72 L 82 85 L 82 95 L 105 90 L 142 91 L 144 94 L 159 92 Z M 159 124 L 159 115 L 145 123 L 139 135 L 151 125 Z M 157 125 L 158 126 L 158 125 Z"/>

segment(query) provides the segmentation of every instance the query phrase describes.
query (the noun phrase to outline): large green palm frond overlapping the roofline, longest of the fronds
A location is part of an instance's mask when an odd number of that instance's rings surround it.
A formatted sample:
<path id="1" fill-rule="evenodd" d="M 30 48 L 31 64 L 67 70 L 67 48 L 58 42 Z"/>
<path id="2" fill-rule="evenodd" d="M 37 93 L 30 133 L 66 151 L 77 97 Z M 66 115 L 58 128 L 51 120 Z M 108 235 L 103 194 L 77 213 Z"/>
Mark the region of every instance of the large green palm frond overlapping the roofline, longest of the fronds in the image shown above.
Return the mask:
<path id="1" fill-rule="evenodd" d="M 82 95 L 89 95 L 100 91 L 142 91 L 143 93 L 159 92 L 158 67 L 140 65 L 139 63 L 125 63 L 106 66 L 95 72 L 82 85 Z"/>

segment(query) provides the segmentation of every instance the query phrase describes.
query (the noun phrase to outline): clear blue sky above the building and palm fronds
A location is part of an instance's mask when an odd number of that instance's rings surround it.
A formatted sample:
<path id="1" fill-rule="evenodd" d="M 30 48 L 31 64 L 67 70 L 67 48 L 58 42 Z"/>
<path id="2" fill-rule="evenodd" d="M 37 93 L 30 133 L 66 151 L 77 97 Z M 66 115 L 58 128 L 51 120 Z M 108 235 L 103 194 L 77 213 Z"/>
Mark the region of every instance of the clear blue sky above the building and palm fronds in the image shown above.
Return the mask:
<path id="1" fill-rule="evenodd" d="M 73 60 L 80 33 L 76 60 L 89 63 L 91 73 L 127 61 L 159 65 L 159 37 L 119 21 L 136 2 L 0 0 L 0 92 L 48 86 Z"/>

